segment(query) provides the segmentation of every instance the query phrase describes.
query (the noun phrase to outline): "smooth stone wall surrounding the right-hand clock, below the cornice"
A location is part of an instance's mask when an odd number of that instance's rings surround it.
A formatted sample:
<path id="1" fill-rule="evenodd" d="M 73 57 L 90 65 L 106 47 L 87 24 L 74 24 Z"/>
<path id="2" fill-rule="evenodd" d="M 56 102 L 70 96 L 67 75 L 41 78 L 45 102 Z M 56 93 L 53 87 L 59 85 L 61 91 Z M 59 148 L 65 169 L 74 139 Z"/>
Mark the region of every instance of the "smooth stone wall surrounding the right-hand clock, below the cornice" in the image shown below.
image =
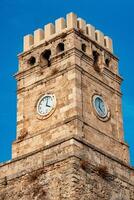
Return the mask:
<path id="1" fill-rule="evenodd" d="M 93 144 L 113 156 L 129 163 L 128 145 L 124 142 L 121 116 L 121 97 L 114 90 L 103 85 L 98 79 L 91 80 L 86 72 L 77 68 L 77 108 L 83 122 L 81 133 Z M 103 75 L 102 75 L 103 76 Z M 103 78 L 105 78 L 103 76 Z M 93 95 L 100 94 L 107 102 L 110 118 L 102 121 L 93 107 Z M 110 97 L 110 98 L 109 98 Z"/>

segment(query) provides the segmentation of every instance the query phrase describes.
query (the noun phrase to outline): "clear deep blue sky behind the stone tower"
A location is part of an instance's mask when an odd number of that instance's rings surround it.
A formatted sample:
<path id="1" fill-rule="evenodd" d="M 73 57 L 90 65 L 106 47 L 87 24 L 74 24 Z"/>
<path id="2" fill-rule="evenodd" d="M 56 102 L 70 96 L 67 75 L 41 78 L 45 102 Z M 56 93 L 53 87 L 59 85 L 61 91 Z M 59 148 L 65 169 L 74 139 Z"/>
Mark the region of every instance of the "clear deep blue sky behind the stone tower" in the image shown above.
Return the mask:
<path id="1" fill-rule="evenodd" d="M 12 75 L 17 71 L 22 38 L 71 11 L 113 38 L 124 78 L 125 140 L 134 165 L 133 0 L 0 0 L 0 162 L 11 159 L 16 135 L 16 82 Z"/>

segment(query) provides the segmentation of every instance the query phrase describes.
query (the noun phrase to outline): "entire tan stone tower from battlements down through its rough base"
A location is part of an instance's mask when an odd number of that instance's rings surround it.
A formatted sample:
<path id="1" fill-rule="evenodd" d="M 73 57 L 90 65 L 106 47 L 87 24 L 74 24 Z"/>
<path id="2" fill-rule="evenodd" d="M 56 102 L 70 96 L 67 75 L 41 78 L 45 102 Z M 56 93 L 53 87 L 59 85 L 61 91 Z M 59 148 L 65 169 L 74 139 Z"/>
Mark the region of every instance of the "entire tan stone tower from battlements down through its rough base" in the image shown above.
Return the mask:
<path id="1" fill-rule="evenodd" d="M 134 200 L 112 40 L 69 13 L 24 37 L 0 200 Z"/>

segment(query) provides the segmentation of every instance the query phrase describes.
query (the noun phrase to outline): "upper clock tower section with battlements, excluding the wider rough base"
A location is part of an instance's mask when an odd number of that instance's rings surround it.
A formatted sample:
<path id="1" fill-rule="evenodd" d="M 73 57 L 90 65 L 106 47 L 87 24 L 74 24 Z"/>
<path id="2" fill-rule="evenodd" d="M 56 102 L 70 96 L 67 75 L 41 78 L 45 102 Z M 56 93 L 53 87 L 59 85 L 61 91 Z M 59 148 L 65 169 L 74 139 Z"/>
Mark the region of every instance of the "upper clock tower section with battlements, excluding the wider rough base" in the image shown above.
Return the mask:
<path id="1" fill-rule="evenodd" d="M 77 137 L 129 162 L 112 40 L 75 14 L 24 37 L 13 158 Z"/>

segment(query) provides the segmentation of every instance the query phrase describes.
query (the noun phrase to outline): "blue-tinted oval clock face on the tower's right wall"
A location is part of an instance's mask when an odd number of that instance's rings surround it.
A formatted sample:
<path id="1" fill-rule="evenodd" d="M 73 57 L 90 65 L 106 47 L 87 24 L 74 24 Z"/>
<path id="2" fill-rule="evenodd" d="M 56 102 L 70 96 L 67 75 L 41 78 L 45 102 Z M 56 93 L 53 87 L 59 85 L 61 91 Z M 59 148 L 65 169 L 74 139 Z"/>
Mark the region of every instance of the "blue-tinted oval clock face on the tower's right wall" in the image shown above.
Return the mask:
<path id="1" fill-rule="evenodd" d="M 93 97 L 93 105 L 94 105 L 94 108 L 95 108 L 97 114 L 99 115 L 99 117 L 101 117 L 101 118 L 107 117 L 108 109 L 107 109 L 107 106 L 101 96 L 95 95 Z"/>

